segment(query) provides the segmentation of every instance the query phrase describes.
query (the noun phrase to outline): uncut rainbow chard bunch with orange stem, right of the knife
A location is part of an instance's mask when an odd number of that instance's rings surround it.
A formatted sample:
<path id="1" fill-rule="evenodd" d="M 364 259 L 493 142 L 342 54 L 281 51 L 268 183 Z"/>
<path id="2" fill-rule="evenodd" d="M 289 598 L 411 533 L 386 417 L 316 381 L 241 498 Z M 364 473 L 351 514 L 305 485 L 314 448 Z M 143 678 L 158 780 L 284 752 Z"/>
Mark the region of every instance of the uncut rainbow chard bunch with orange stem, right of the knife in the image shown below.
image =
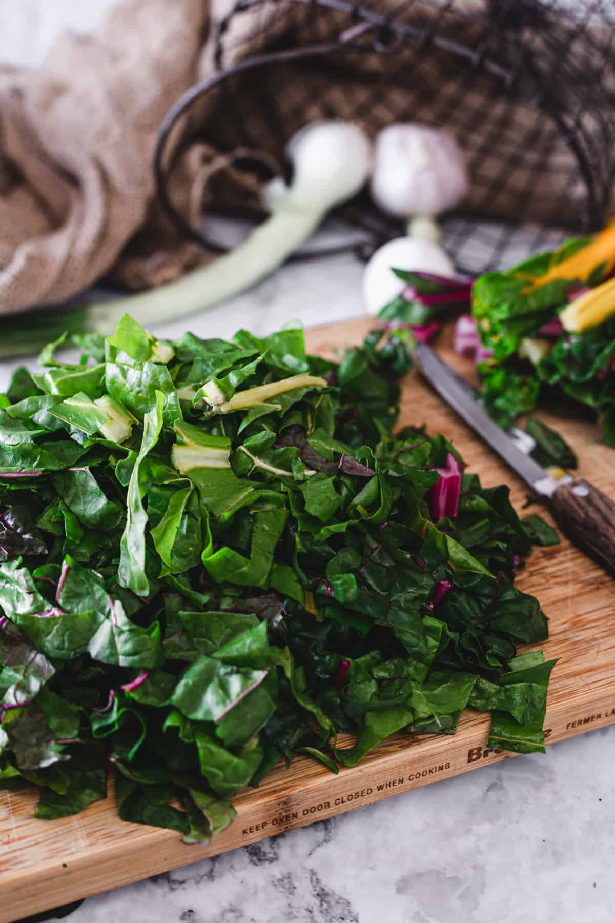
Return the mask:
<path id="1" fill-rule="evenodd" d="M 501 426 L 547 403 L 555 413 L 574 408 L 596 420 L 600 440 L 615 446 L 612 307 L 609 317 L 582 332 L 562 330 L 558 319 L 580 292 L 612 272 L 614 261 L 610 225 L 593 243 L 574 238 L 554 252 L 505 272 L 487 272 L 474 282 L 472 314 L 483 347 L 491 352 L 478 366 L 483 400 Z M 534 349 L 527 349 L 528 341 Z"/>

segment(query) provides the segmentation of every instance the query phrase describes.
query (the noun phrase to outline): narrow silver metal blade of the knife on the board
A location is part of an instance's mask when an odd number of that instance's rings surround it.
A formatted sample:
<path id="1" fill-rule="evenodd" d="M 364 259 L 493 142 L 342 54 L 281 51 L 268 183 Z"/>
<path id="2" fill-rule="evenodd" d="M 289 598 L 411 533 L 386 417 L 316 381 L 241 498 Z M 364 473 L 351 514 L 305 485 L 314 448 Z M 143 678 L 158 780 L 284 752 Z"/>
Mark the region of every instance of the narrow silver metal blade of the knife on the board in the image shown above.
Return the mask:
<path id="1" fill-rule="evenodd" d="M 457 375 L 450 366 L 435 354 L 427 343 L 417 343 L 414 349 L 414 361 L 423 378 L 427 378 L 433 390 L 437 391 L 444 402 L 452 407 L 466 423 L 478 433 L 479 437 L 495 450 L 504 462 L 507 462 L 519 474 L 526 485 L 535 493 L 551 497 L 556 487 L 564 483 L 562 478 L 554 478 L 538 462 L 521 450 L 518 440 L 510 438 L 503 429 L 491 420 L 483 408 L 479 392 L 465 378 Z M 573 480 L 565 474 L 567 482 Z"/>

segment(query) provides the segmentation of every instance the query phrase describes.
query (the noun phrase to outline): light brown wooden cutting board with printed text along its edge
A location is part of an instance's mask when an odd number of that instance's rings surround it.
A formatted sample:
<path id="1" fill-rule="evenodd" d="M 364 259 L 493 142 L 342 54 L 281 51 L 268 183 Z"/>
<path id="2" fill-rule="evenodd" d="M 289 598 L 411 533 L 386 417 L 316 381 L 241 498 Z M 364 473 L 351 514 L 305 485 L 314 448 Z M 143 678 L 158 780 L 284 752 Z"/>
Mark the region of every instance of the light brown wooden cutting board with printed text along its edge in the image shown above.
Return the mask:
<path id="1" fill-rule="evenodd" d="M 344 344 L 361 342 L 370 326 L 361 318 L 309 330 L 308 348 L 339 354 Z M 472 378 L 473 367 L 451 352 L 446 337 L 439 349 Z M 543 418 L 549 422 L 548 414 Z M 511 485 L 519 509 L 526 497 L 522 482 L 413 372 L 404 385 L 401 423 L 423 422 L 453 438 L 484 485 Z M 614 450 L 597 445 L 588 424 L 550 422 L 577 450 L 579 473 L 615 497 Z M 518 586 L 540 599 L 550 617 L 545 654 L 561 658 L 550 685 L 547 742 L 615 723 L 615 582 L 564 540 L 537 549 Z M 290 770 L 278 767 L 258 789 L 236 797 L 237 819 L 207 847 L 183 845 L 179 833 L 120 821 L 111 783 L 106 801 L 59 821 L 35 820 L 35 789 L 0 791 L 0 923 L 509 759 L 513 754 L 486 749 L 488 728 L 489 715 L 467 712 L 455 737 L 398 734 L 338 775 L 300 757 Z"/>

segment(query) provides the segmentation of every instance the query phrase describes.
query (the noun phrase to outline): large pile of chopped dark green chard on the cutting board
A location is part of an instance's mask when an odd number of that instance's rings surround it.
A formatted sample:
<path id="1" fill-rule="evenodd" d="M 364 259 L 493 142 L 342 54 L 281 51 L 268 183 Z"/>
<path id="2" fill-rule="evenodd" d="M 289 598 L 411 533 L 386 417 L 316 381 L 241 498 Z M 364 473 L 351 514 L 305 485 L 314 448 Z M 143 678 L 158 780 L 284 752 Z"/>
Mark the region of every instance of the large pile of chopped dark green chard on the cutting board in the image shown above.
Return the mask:
<path id="1" fill-rule="evenodd" d="M 120 817 L 204 843 L 280 759 L 337 772 L 467 705 L 543 749 L 550 667 L 516 649 L 547 620 L 514 569 L 548 533 L 476 474 L 432 519 L 461 462 L 394 433 L 403 337 L 340 365 L 295 329 L 61 345 L 0 418 L 0 778 L 40 785 L 39 817 L 105 797 L 111 764 Z"/>

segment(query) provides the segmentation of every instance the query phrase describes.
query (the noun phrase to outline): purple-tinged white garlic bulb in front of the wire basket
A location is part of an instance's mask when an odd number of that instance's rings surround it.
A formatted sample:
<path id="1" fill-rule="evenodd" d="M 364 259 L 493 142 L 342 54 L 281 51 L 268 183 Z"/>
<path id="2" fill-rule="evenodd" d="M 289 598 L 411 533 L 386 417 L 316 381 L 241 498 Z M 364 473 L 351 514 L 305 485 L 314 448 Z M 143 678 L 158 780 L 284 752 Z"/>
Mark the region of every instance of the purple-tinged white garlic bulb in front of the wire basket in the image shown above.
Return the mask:
<path id="1" fill-rule="evenodd" d="M 391 125 L 376 138 L 372 197 L 396 218 L 455 208 L 469 186 L 464 155 L 442 128 Z"/>

